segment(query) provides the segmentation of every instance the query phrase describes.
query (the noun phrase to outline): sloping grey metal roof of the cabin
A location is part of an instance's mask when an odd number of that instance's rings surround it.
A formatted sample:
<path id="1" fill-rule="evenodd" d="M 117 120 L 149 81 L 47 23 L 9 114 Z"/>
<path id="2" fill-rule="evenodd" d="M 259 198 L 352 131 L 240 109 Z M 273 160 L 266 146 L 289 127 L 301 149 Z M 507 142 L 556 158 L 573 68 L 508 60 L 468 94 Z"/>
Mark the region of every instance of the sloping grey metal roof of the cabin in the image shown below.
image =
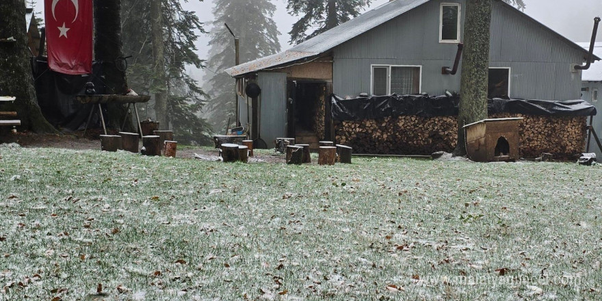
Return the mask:
<path id="1" fill-rule="evenodd" d="M 266 68 L 274 68 L 276 66 L 283 66 L 291 62 L 298 62 L 303 59 L 305 59 L 305 61 L 309 61 L 312 57 L 320 55 L 321 53 L 325 53 L 326 51 L 329 51 L 330 49 L 337 47 L 338 45 L 343 44 L 344 42 L 347 42 L 348 40 L 351 40 L 352 38 L 355 38 L 356 36 L 359 36 L 366 31 L 377 27 L 378 25 L 381 25 L 382 23 L 396 18 L 397 16 L 401 16 L 402 14 L 417 8 L 428 1 L 430 0 L 389 1 L 378 6 L 377 8 L 374 8 L 373 10 L 369 10 L 368 12 L 353 18 L 350 21 L 347 21 L 335 28 L 306 40 L 305 42 L 302 42 L 287 51 L 269 55 L 267 57 L 261 57 L 257 60 L 228 68 L 225 71 L 228 73 L 228 75 L 237 77 L 239 75 L 252 73 L 258 70 L 264 70 Z M 504 2 L 501 1 L 501 3 Z M 508 7 L 516 10 L 516 8 L 514 8 L 512 5 L 508 5 Z M 527 16 L 523 12 L 521 12 L 521 14 L 538 23 L 544 29 L 551 31 L 561 40 L 567 42 L 571 47 L 583 50 L 581 47 L 579 47 L 579 45 L 575 44 L 575 42 L 564 38 L 564 36 L 558 34 L 556 31 L 553 31 L 545 25 L 542 25 L 534 18 Z M 585 52 L 587 53 L 587 51 Z M 594 60 L 600 60 L 600 57 L 594 56 Z"/>

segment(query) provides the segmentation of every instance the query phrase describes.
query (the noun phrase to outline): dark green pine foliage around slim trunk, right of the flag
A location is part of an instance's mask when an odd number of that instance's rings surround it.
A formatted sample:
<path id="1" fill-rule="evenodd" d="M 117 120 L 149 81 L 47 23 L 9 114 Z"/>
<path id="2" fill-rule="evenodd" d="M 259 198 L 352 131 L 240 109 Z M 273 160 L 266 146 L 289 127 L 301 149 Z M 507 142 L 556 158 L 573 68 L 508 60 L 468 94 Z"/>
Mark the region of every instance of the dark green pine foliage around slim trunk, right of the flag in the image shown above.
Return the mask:
<path id="1" fill-rule="evenodd" d="M 161 15 L 162 39 L 153 40 L 151 2 L 122 0 L 123 49 L 129 59 L 129 87 L 138 94 L 160 93 L 165 98 L 165 122 L 174 129 L 174 139 L 185 144 L 211 142 L 209 124 L 198 117 L 207 94 L 186 73 L 186 66 L 203 68 L 203 62 L 194 52 L 198 34 L 205 34 L 202 23 L 194 12 L 184 10 L 179 0 L 158 0 Z M 163 55 L 153 53 L 153 42 L 163 42 Z M 157 66 L 160 62 L 162 66 Z M 164 62 L 164 64 L 162 63 Z M 162 67 L 162 68 L 161 68 Z M 157 70 L 163 70 L 157 74 Z M 156 116 L 154 100 L 142 109 L 140 118 Z M 163 110 L 163 109 L 161 109 Z M 161 114 L 159 113 L 159 115 Z"/>

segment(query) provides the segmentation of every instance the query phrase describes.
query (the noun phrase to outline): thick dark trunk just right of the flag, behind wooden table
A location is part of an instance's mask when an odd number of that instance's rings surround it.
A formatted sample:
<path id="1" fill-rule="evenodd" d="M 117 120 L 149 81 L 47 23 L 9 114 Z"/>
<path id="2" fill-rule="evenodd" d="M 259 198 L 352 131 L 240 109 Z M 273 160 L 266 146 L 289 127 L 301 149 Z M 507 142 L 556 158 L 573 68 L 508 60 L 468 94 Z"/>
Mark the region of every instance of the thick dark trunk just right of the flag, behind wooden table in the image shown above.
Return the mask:
<path id="1" fill-rule="evenodd" d="M 127 93 L 125 70 L 120 70 L 123 61 L 121 38 L 121 0 L 94 0 L 94 60 L 103 62 L 103 79 L 107 85 L 107 94 Z M 118 60 L 119 59 L 119 60 Z M 127 118 L 124 131 L 134 131 L 131 114 L 125 105 L 107 104 L 109 118 L 107 125 L 119 129 L 123 119 Z"/>

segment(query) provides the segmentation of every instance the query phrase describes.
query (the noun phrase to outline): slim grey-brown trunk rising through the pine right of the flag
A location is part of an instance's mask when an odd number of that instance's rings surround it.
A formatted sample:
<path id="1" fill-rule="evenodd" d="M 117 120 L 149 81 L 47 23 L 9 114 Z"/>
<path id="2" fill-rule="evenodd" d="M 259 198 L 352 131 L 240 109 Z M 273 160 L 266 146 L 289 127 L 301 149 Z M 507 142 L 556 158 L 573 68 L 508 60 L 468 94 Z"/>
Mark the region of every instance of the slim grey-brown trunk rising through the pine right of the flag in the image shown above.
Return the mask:
<path id="1" fill-rule="evenodd" d="M 161 0 L 150 1 L 150 34 L 153 41 L 153 59 L 155 60 L 155 118 L 159 129 L 169 129 L 167 124 L 167 79 L 165 74 L 165 44 L 163 44 L 163 15 Z"/>

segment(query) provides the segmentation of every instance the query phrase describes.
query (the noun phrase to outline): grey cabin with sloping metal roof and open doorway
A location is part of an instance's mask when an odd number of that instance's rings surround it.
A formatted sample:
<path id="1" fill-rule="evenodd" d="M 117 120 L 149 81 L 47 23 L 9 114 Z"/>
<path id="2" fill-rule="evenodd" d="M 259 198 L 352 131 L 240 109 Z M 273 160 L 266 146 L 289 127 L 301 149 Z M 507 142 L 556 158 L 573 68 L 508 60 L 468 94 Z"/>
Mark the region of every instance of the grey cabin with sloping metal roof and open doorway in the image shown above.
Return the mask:
<path id="1" fill-rule="evenodd" d="M 444 75 L 441 68 L 454 64 L 463 40 L 465 2 L 393 0 L 287 51 L 226 72 L 239 79 L 241 94 L 249 81 L 261 87 L 259 133 L 268 145 L 280 136 L 304 142 L 308 133 L 332 139 L 324 101 L 332 92 L 343 97 L 459 92 L 461 63 L 456 75 Z M 584 64 L 586 50 L 498 0 L 490 31 L 492 96 L 580 98 L 581 72 L 573 66 Z M 244 123 L 244 98 L 239 112 Z"/>

